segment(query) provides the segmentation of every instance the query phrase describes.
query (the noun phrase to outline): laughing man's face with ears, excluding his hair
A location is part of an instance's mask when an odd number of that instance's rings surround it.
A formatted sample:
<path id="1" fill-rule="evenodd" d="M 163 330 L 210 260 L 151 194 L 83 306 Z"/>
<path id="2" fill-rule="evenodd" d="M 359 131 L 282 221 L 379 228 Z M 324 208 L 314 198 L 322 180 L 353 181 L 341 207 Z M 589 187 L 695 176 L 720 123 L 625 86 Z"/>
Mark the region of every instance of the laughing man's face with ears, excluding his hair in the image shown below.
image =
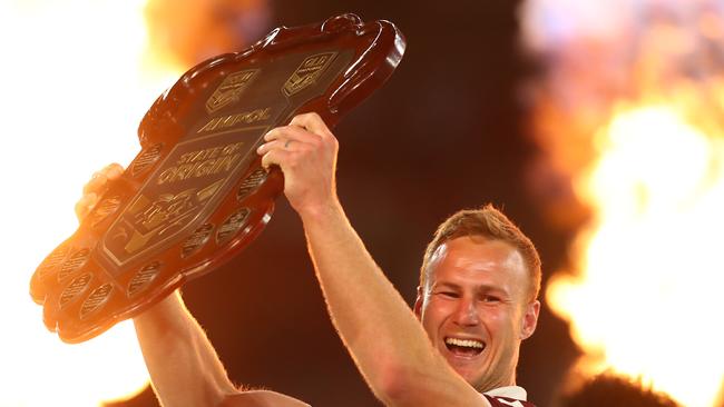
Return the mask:
<path id="1" fill-rule="evenodd" d="M 433 346 L 480 391 L 515 384 L 520 341 L 536 329 L 528 271 L 512 246 L 482 237 L 441 245 L 414 312 Z"/>

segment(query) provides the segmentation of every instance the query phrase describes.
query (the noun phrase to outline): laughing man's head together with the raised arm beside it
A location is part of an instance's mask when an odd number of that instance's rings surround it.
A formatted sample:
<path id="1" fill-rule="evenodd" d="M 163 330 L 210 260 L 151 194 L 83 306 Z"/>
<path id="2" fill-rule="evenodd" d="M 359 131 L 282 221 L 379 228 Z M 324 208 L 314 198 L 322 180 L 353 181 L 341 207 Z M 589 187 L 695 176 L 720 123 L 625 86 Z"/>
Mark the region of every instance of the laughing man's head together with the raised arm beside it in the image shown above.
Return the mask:
<path id="1" fill-rule="evenodd" d="M 411 310 L 375 265 L 336 197 L 337 141 L 315 113 L 276 128 L 260 147 L 284 172 L 340 337 L 388 406 L 532 406 L 516 386 L 520 343 L 532 335 L 540 260 L 492 207 L 438 229 Z"/>

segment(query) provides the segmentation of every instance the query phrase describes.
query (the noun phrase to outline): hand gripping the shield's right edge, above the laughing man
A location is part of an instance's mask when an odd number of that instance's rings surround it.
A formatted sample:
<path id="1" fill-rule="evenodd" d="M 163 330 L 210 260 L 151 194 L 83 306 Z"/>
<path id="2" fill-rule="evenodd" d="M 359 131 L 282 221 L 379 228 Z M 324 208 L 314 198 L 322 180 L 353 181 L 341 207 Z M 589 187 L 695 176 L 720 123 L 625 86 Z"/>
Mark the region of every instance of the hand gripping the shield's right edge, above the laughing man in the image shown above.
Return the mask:
<path id="1" fill-rule="evenodd" d="M 284 172 L 284 195 L 301 215 L 336 204 L 334 169 L 339 143 L 317 113 L 294 117 L 288 126 L 264 136 L 262 165 Z"/>

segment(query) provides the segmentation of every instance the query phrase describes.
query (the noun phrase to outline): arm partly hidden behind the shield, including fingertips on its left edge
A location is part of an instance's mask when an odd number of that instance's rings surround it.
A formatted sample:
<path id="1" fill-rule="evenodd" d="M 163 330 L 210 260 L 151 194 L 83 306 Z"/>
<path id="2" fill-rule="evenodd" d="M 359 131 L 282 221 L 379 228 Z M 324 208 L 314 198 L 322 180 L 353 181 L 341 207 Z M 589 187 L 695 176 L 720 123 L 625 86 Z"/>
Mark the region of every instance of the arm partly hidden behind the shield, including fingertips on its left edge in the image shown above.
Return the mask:
<path id="1" fill-rule="evenodd" d="M 121 172 L 123 167 L 110 165 L 94 175 L 76 205 L 79 219 Z M 154 391 L 163 406 L 309 406 L 274 391 L 238 390 L 178 291 L 134 318 L 134 326 Z"/>

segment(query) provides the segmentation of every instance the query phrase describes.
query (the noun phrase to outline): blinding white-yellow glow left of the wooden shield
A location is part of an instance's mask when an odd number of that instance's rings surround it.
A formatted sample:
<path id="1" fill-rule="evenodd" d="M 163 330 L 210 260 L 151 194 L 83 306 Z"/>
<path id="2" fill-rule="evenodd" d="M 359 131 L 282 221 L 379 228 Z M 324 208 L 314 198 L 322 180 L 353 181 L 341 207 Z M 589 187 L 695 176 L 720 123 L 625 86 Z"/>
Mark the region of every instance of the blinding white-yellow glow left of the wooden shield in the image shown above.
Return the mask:
<path id="1" fill-rule="evenodd" d="M 143 9 L 143 0 L 0 0 L 0 406 L 95 406 L 147 384 L 129 322 L 63 345 L 28 294 L 37 265 L 75 230 L 85 181 L 133 159 L 140 118 L 179 75 L 144 58 Z"/>

